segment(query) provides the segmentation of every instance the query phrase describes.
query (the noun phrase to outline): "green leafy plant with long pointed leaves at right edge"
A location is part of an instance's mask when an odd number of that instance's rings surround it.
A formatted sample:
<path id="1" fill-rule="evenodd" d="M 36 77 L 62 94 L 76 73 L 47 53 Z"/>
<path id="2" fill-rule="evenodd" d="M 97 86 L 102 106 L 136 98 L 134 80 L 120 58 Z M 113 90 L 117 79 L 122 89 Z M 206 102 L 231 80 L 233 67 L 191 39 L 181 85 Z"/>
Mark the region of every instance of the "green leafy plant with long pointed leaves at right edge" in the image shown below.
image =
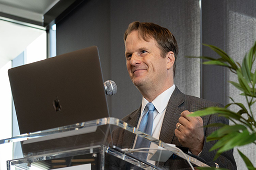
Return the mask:
<path id="1" fill-rule="evenodd" d="M 252 110 L 252 105 L 256 102 L 256 70 L 253 71 L 252 66 L 256 57 L 256 42 L 250 49 L 249 53 L 245 55 L 242 60 L 242 64 L 235 62 L 229 57 L 223 50 L 213 46 L 206 45 L 214 50 L 220 58 L 214 59 L 211 57 L 192 57 L 206 59 L 207 61 L 203 64 L 211 64 L 228 68 L 231 72 L 237 75 L 237 82 L 229 81 L 237 89 L 241 91 L 242 96 L 246 98 L 246 105 L 235 102 L 234 99 L 229 97 L 232 103 L 229 103 L 225 108 L 210 107 L 204 110 L 196 111 L 191 116 L 203 116 L 208 114 L 218 114 L 219 116 L 224 116 L 229 119 L 234 125 L 225 124 L 211 124 L 207 126 L 219 126 L 220 128 L 212 133 L 206 138 L 207 141 L 218 140 L 215 145 L 210 149 L 217 150 L 214 160 L 218 158 L 220 154 L 225 151 L 231 150 L 234 147 L 245 146 L 249 143 L 254 143 L 256 145 L 256 122 L 253 116 L 255 113 Z M 231 111 L 228 108 L 231 105 L 236 105 L 239 107 L 237 112 Z M 254 112 L 253 112 L 254 111 Z M 246 163 L 249 170 L 256 169 L 253 167 L 251 161 L 238 150 L 241 158 Z M 199 168 L 199 169 L 216 169 L 216 168 Z M 224 168 L 222 168 L 224 169 Z"/>

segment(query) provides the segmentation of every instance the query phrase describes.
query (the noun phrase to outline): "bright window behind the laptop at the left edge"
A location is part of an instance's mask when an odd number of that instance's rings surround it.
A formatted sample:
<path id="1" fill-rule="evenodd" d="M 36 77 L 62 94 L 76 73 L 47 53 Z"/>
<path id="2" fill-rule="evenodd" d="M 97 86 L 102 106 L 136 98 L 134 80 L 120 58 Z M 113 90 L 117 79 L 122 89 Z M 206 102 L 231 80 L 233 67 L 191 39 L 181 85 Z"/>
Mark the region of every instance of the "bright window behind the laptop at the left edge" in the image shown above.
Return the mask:
<path id="1" fill-rule="evenodd" d="M 12 103 L 9 77 L 7 74 L 8 69 L 45 59 L 48 55 L 48 35 L 43 29 L 26 27 L 24 25 L 9 23 L 2 20 L 0 20 L 0 22 L 4 23 L 2 25 L 4 25 L 6 37 L 9 39 L 14 38 L 13 40 L 8 41 L 5 41 L 4 38 L 1 38 L 0 40 L 1 44 L 6 44 L 8 47 L 11 46 L 12 49 L 6 50 L 7 52 L 10 52 L 9 54 L 3 53 L 0 56 L 0 61 L 2 64 L 0 65 L 0 139 L 5 139 L 19 135 L 17 117 Z M 8 32 L 8 30 L 10 30 L 10 32 Z M 13 34 L 15 34 L 14 32 L 19 32 L 19 36 L 13 36 Z M 8 34 L 10 35 L 8 36 Z M 56 35 L 51 36 L 53 42 L 56 40 L 55 36 Z M 23 48 L 22 50 L 20 50 L 21 46 Z M 50 49 L 56 51 L 54 48 L 56 48 L 56 45 L 52 45 L 50 47 Z M 15 50 L 20 50 L 20 52 L 18 53 Z M 14 54 L 16 54 L 16 56 L 12 56 Z M 54 54 L 56 54 L 56 52 L 53 52 L 53 55 Z M 4 64 L 2 61 L 4 61 Z M 0 169 L 6 169 L 6 160 L 15 159 L 14 155 L 22 154 L 21 148 L 17 148 L 16 146 L 14 149 L 14 147 L 15 146 L 13 146 L 13 143 L 0 145 Z"/>

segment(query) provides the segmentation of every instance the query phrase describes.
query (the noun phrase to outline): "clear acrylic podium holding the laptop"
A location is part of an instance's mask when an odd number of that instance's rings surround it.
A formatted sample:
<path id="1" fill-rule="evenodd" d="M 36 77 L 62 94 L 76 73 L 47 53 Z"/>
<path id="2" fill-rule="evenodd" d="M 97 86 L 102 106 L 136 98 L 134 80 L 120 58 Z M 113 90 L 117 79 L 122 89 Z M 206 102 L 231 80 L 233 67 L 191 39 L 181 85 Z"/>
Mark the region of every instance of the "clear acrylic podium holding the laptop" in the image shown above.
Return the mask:
<path id="1" fill-rule="evenodd" d="M 181 153 L 177 148 L 170 147 L 113 117 L 2 139 L 0 147 L 11 146 L 12 155 L 6 159 L 7 170 L 74 167 L 76 169 L 136 169 L 137 167 L 161 169 L 152 162 L 141 160 L 132 153 L 122 150 L 126 146 L 114 145 L 112 134 L 118 129 L 122 129 L 126 134 L 138 135 L 150 140 L 150 148 L 163 147 L 196 166 L 207 166 L 188 154 Z"/>

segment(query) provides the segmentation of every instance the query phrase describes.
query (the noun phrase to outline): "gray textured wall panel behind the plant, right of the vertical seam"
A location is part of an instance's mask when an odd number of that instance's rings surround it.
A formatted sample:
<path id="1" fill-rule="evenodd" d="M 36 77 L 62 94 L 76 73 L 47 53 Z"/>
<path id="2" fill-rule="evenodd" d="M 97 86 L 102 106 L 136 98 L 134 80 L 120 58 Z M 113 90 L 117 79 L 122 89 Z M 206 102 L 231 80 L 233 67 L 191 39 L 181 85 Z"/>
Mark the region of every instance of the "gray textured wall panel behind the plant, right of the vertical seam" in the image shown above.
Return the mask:
<path id="1" fill-rule="evenodd" d="M 242 58 L 248 53 L 256 41 L 256 1 L 247 0 L 215 0 L 202 1 L 202 41 L 223 49 L 235 61 L 242 62 Z M 203 56 L 218 57 L 212 50 L 203 47 Z M 219 58 L 219 57 L 218 57 Z M 236 102 L 246 103 L 241 91 L 227 81 L 237 82 L 237 77 L 228 69 L 216 66 L 202 66 L 202 97 L 221 102 L 230 103 L 228 96 Z M 230 107 L 237 111 L 238 108 Z M 253 110 L 256 108 L 254 107 Z M 256 116 L 254 112 L 254 117 Z M 248 145 L 239 147 L 256 165 L 256 147 Z M 240 158 L 237 148 L 234 149 L 237 169 L 247 169 Z"/>

